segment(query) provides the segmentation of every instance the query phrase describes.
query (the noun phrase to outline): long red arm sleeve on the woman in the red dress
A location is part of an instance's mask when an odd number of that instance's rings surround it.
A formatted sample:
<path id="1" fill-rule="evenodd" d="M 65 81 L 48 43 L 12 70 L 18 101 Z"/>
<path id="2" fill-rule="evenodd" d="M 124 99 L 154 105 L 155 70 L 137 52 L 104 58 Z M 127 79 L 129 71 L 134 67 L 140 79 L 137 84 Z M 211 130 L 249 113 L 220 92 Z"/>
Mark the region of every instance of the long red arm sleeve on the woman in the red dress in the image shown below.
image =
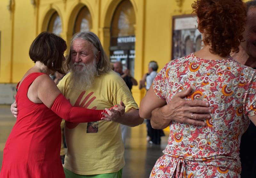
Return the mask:
<path id="1" fill-rule="evenodd" d="M 105 117 L 101 114 L 101 112 L 106 112 L 105 110 L 94 110 L 82 107 L 74 107 L 68 102 L 68 100 L 62 94 L 58 95 L 55 98 L 51 110 L 64 120 L 79 123 L 98 121 L 102 117 Z"/>

